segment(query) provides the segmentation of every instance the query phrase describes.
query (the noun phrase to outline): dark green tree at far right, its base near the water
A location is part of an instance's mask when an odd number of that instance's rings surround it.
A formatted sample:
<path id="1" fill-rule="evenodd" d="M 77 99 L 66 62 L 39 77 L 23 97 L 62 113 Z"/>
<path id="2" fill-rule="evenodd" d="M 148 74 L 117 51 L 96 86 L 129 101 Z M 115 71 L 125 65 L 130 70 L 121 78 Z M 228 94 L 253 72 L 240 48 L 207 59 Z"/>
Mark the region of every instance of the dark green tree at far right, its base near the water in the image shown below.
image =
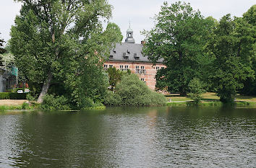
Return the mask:
<path id="1" fill-rule="evenodd" d="M 216 57 L 210 78 L 221 102 L 234 102 L 236 90 L 244 87 L 243 81 L 254 77 L 248 54 L 248 26 L 241 18 L 231 19 L 227 14 L 221 18 L 209 45 Z"/>

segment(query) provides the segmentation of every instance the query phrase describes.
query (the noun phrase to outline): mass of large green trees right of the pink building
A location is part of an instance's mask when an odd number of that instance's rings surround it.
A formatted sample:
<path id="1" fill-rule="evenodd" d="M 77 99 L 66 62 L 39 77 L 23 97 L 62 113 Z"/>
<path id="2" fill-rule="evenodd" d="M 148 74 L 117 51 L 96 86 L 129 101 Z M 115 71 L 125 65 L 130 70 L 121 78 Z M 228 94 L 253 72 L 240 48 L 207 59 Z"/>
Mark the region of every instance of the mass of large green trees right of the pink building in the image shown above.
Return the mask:
<path id="1" fill-rule="evenodd" d="M 189 82 L 199 79 L 221 102 L 233 102 L 237 92 L 256 95 L 255 19 L 256 5 L 243 17 L 226 14 L 218 21 L 181 1 L 165 2 L 155 27 L 144 32 L 144 54 L 166 64 L 158 71 L 156 87 L 186 95 Z"/>

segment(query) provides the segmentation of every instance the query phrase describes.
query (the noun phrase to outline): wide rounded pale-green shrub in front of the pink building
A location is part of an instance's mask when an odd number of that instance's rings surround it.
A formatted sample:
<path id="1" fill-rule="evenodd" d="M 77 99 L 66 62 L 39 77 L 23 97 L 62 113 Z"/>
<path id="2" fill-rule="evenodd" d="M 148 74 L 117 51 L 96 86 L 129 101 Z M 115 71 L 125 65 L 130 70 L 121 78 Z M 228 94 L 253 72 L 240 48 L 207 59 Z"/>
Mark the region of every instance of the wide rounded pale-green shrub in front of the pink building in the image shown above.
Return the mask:
<path id="1" fill-rule="evenodd" d="M 165 102 L 163 94 L 150 90 L 136 74 L 122 76 L 116 92 L 109 92 L 105 99 L 105 105 L 112 106 L 157 106 Z"/>

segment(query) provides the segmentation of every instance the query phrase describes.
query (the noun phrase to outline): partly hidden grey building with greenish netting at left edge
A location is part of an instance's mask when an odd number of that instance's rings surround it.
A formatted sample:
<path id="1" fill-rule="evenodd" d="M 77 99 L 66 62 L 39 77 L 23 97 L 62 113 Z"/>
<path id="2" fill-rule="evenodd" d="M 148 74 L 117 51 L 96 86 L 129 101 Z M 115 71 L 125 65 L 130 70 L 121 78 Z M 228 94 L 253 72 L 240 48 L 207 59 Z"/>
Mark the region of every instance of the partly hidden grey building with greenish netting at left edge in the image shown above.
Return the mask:
<path id="1" fill-rule="evenodd" d="M 16 84 L 17 68 L 12 67 L 12 71 L 0 67 L 0 92 L 6 92 Z"/>

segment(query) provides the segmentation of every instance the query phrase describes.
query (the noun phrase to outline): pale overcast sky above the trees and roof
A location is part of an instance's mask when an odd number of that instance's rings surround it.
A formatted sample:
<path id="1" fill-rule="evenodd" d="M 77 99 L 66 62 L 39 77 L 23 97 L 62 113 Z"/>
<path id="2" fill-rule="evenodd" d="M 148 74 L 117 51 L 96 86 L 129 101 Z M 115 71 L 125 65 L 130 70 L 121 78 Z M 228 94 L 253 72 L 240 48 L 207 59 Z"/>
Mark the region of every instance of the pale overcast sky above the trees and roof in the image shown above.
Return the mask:
<path id="1" fill-rule="evenodd" d="M 20 12 L 19 3 L 14 3 L 12 0 L 0 0 L 0 32 L 1 38 L 5 41 L 9 40 L 9 31 L 14 25 L 14 18 Z M 121 32 L 126 37 L 126 30 L 131 22 L 132 30 L 136 43 L 140 43 L 144 36 L 140 35 L 142 30 L 150 30 L 153 27 L 153 19 L 150 19 L 158 14 L 163 1 L 168 1 L 169 4 L 174 0 L 109 0 L 109 3 L 114 6 L 113 18 L 111 22 L 116 23 L 121 28 Z M 220 19 L 225 14 L 242 17 L 244 12 L 247 12 L 250 6 L 256 4 L 255 0 L 184 0 L 189 2 L 193 9 L 199 9 L 205 17 L 212 16 Z M 124 39 L 123 39 L 124 40 Z"/>

